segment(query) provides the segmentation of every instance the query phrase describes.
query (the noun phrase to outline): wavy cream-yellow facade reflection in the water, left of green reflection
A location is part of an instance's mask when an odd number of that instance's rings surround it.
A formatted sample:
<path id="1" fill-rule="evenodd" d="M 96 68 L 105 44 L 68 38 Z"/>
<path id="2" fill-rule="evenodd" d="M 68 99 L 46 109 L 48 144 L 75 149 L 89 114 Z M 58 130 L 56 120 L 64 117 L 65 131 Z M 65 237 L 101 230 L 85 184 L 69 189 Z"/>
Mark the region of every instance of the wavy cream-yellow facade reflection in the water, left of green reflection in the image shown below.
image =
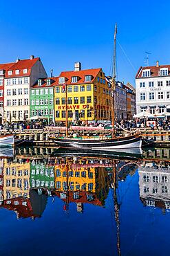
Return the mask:
<path id="1" fill-rule="evenodd" d="M 17 197 L 29 198 L 30 163 L 8 163 L 3 165 L 3 200 Z"/>

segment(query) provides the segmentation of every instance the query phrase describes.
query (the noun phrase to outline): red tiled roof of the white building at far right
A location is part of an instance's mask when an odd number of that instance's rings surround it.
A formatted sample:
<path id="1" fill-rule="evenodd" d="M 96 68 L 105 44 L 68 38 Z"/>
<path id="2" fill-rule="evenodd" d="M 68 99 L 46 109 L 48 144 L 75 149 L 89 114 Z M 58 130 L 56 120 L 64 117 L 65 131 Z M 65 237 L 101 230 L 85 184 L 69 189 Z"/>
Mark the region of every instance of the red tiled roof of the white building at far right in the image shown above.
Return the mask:
<path id="1" fill-rule="evenodd" d="M 136 74 L 136 78 L 142 77 L 142 71 L 145 69 L 151 70 L 151 77 L 159 77 L 160 68 L 168 68 L 168 75 L 170 75 L 170 65 L 161 65 L 161 66 L 140 66 L 138 69 L 138 73 Z"/>

